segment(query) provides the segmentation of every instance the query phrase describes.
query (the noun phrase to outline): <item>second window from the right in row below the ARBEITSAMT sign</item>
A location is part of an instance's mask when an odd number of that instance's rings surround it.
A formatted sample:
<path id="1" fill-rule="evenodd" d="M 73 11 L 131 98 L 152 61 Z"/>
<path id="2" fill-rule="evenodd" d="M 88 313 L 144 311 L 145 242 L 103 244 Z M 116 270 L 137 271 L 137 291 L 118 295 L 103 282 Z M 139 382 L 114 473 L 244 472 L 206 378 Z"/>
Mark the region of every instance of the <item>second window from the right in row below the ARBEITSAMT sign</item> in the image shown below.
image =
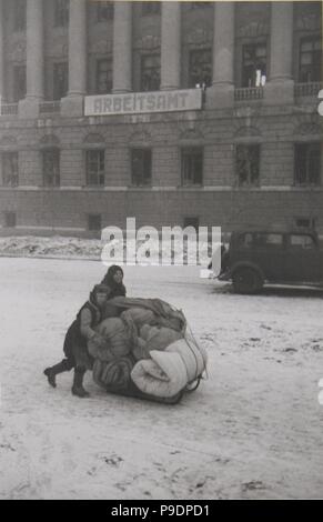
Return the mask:
<path id="1" fill-rule="evenodd" d="M 235 167 L 241 187 L 259 184 L 260 145 L 236 145 Z"/>

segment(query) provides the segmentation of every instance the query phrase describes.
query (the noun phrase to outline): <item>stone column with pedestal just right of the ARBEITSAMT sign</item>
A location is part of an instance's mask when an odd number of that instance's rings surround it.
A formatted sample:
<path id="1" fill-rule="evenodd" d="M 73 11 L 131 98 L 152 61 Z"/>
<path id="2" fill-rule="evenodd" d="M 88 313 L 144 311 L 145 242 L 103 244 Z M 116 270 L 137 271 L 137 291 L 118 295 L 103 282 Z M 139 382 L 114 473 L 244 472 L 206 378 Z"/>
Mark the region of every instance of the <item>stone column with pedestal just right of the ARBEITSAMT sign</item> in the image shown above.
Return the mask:
<path id="1" fill-rule="evenodd" d="M 233 107 L 234 2 L 214 2 L 213 80 L 206 90 L 209 108 Z"/>

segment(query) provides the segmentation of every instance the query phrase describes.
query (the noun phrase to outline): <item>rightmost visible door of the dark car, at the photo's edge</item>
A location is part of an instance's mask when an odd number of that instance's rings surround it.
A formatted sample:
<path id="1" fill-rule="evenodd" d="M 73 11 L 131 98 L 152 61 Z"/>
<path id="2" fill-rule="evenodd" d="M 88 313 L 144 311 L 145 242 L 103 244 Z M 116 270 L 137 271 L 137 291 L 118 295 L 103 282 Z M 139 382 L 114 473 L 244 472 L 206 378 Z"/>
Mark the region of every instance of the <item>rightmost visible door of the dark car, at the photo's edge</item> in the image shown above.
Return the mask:
<path id="1" fill-rule="evenodd" d="M 322 278 L 322 257 L 312 234 L 286 235 L 285 280 L 315 282 Z"/>

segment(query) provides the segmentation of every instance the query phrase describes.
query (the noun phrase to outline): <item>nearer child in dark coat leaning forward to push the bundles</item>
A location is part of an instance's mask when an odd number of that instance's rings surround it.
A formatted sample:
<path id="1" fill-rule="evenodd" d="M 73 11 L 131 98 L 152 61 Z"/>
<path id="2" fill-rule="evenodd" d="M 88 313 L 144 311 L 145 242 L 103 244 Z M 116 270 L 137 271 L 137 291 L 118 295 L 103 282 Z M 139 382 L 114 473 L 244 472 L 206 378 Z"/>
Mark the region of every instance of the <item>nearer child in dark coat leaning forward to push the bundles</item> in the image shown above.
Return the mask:
<path id="1" fill-rule="evenodd" d="M 70 325 L 63 345 L 65 359 L 58 364 L 47 368 L 44 374 L 51 387 L 55 388 L 55 375 L 68 372 L 74 368 L 74 379 L 72 385 L 73 395 L 80 398 L 89 396 L 83 388 L 83 377 L 88 369 L 92 368 L 93 360 L 88 352 L 88 341 L 97 343 L 98 348 L 105 345 L 105 340 L 97 333 L 93 328 L 102 320 L 102 312 L 110 297 L 110 288 L 103 284 L 95 284 L 87 301 L 80 309 L 77 319 Z"/>

